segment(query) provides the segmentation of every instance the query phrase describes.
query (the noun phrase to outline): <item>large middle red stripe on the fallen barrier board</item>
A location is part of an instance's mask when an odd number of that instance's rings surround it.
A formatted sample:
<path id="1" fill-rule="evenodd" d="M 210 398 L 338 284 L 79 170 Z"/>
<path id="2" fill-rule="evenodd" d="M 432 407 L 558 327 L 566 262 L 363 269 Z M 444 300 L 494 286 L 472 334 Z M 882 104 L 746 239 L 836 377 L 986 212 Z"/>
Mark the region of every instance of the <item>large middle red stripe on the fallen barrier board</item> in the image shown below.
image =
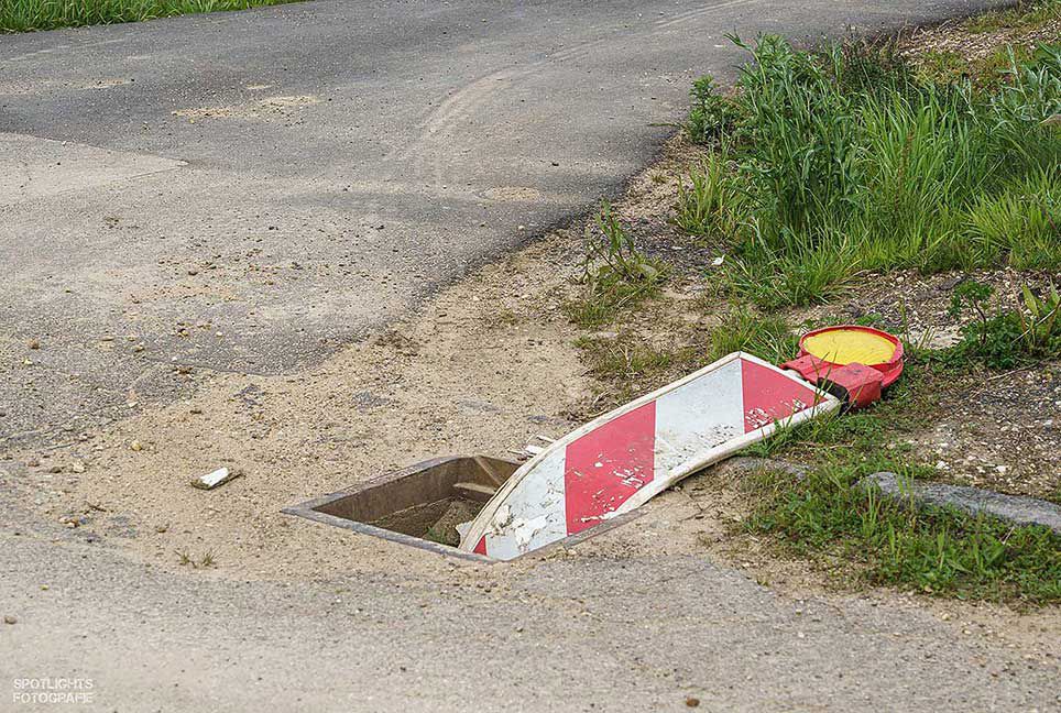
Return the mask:
<path id="1" fill-rule="evenodd" d="M 564 490 L 568 535 L 601 522 L 652 482 L 656 403 L 636 408 L 568 445 Z"/>

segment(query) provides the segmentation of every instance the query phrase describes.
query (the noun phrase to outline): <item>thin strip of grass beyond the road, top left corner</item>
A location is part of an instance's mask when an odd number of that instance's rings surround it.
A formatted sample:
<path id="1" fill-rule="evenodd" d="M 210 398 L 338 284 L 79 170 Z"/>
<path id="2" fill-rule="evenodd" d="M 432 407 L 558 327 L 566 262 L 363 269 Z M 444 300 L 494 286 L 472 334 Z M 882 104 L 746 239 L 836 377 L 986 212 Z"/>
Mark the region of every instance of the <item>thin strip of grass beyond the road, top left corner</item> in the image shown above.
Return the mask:
<path id="1" fill-rule="evenodd" d="M 0 0 L 0 32 L 30 32 L 245 10 L 292 0 Z"/>

